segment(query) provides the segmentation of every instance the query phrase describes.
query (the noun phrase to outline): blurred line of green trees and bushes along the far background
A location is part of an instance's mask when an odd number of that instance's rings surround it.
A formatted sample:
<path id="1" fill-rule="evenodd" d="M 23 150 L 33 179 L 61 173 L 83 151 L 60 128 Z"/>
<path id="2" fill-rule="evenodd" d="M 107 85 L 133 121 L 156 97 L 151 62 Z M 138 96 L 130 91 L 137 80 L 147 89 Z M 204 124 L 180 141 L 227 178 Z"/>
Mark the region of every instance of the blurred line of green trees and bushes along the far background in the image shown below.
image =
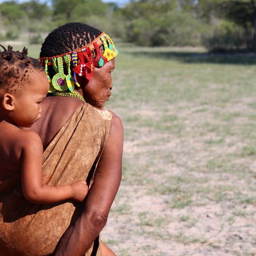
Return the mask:
<path id="1" fill-rule="evenodd" d="M 0 40 L 28 33 L 30 43 L 66 22 L 84 22 L 141 46 L 256 49 L 256 0 L 30 0 L 0 4 Z"/>

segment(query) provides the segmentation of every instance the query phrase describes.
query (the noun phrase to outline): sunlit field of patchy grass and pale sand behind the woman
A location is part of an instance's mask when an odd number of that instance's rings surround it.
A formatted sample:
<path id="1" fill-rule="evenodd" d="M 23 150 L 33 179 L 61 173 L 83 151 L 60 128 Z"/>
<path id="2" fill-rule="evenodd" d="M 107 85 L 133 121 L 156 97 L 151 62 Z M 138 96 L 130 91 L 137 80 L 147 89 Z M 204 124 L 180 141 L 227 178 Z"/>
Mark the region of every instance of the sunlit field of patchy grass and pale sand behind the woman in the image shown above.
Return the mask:
<path id="1" fill-rule="evenodd" d="M 256 56 L 115 46 L 123 178 L 102 240 L 118 256 L 256 255 Z"/>

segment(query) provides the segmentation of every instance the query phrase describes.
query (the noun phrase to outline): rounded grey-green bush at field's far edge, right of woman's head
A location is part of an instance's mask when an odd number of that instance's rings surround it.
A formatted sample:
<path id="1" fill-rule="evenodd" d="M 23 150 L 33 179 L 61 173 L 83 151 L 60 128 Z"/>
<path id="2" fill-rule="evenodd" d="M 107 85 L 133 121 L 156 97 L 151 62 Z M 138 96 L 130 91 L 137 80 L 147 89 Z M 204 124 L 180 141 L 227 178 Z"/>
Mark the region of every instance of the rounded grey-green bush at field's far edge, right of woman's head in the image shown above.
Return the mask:
<path id="1" fill-rule="evenodd" d="M 126 39 L 141 46 L 197 46 L 202 28 L 189 13 L 172 11 L 132 21 Z"/>

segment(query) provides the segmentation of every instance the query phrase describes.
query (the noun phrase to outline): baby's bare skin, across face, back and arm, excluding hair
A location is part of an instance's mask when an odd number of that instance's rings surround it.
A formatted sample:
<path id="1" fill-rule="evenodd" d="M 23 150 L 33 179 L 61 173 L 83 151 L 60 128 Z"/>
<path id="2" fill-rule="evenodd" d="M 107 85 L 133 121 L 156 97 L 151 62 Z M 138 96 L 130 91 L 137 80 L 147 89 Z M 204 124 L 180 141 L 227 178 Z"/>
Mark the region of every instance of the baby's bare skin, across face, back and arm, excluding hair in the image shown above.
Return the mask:
<path id="1" fill-rule="evenodd" d="M 42 184 L 41 139 L 35 132 L 18 127 L 30 127 L 41 117 L 40 103 L 49 83 L 43 71 L 36 71 L 31 72 L 21 92 L 0 90 L 0 188 L 1 180 L 21 171 L 22 192 L 30 202 L 49 204 L 67 199 L 82 202 L 88 192 L 85 181 L 59 187 Z"/>

